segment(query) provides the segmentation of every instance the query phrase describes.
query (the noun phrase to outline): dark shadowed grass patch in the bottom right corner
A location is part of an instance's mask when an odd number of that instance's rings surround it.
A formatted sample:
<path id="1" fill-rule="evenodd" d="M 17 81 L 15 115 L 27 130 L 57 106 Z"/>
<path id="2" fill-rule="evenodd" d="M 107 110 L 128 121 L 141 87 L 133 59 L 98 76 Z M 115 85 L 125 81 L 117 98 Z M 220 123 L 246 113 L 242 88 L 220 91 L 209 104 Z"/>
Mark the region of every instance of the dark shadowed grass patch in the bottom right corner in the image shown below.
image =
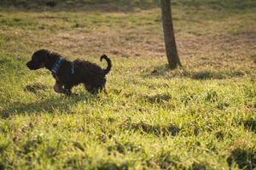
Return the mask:
<path id="1" fill-rule="evenodd" d="M 256 150 L 242 150 L 240 148 L 233 150 L 228 157 L 227 162 L 230 167 L 236 163 L 241 169 L 254 169 L 256 167 Z"/>

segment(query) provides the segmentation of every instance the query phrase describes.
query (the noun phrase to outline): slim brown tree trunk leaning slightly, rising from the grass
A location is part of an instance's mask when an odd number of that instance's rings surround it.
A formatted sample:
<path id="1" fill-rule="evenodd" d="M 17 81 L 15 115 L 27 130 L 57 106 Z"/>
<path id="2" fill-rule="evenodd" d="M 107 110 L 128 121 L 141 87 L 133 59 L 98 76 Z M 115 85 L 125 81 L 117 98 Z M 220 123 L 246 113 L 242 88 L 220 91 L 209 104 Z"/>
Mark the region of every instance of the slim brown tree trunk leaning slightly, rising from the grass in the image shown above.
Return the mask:
<path id="1" fill-rule="evenodd" d="M 181 65 L 181 62 L 177 54 L 177 46 L 174 37 L 173 25 L 172 25 L 172 11 L 171 0 L 160 0 L 160 7 L 162 11 L 162 22 L 164 28 L 164 37 L 166 44 L 166 55 L 168 64 L 171 69 L 177 68 Z"/>

